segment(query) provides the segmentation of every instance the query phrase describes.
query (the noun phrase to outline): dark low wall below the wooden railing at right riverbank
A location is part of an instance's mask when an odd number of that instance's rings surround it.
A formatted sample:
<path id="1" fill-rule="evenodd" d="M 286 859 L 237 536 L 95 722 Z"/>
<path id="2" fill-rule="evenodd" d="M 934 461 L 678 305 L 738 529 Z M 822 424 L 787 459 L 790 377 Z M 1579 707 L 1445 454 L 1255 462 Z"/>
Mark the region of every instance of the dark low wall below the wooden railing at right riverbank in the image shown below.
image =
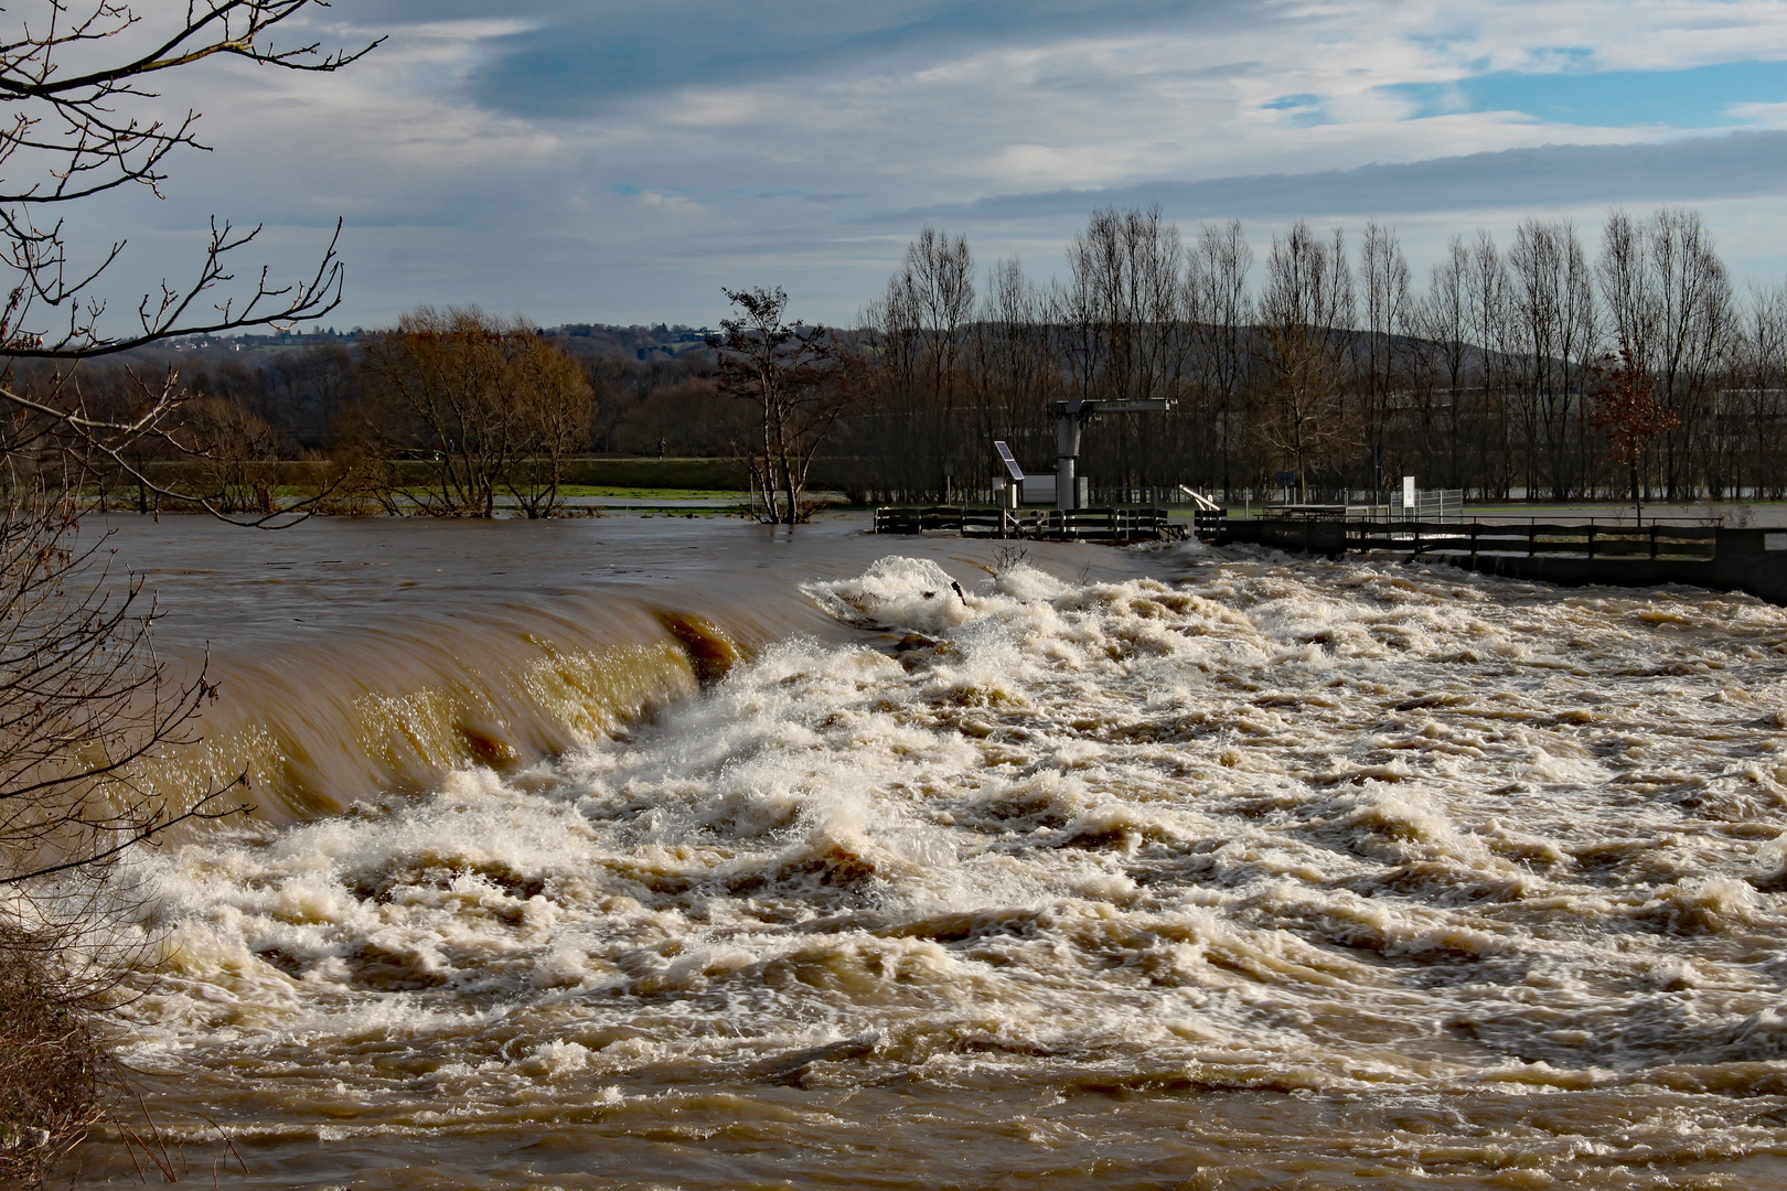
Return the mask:
<path id="1" fill-rule="evenodd" d="M 1344 521 L 1226 521 L 1217 541 L 1246 541 L 1278 550 L 1297 550 L 1338 557 L 1346 552 Z M 1444 559 L 1485 575 L 1530 579 L 1564 587 L 1608 584 L 1614 587 L 1655 587 L 1691 584 L 1714 591 L 1744 591 L 1758 600 L 1787 607 L 1787 532 L 1762 529 L 1721 529 L 1710 559 L 1642 559 L 1585 555 L 1460 554 L 1428 550 L 1419 557 Z"/>

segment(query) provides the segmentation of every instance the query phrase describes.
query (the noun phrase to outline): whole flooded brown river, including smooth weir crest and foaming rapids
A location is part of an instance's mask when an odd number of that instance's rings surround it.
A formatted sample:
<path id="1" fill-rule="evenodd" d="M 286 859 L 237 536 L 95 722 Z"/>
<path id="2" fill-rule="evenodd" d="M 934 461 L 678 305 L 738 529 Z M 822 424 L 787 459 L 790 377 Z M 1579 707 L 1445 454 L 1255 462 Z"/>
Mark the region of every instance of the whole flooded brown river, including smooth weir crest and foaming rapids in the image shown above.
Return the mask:
<path id="1" fill-rule="evenodd" d="M 1787 611 L 860 530 L 120 523 L 189 1177 L 1787 1186 Z"/>

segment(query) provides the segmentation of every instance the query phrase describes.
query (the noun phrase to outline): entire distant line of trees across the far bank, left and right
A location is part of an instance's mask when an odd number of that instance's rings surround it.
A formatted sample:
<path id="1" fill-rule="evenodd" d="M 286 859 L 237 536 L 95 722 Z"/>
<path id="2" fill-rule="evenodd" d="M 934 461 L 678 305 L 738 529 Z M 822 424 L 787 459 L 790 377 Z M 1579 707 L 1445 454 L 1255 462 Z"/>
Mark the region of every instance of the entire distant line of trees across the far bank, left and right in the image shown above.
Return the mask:
<path id="1" fill-rule="evenodd" d="M 963 237 L 926 229 L 858 325 L 829 336 L 811 400 L 842 416 L 815 477 L 867 498 L 961 496 L 988 487 L 994 439 L 1053 471 L 1051 402 L 1169 398 L 1165 414 L 1094 421 L 1081 473 L 1228 498 L 1405 473 L 1476 498 L 1626 498 L 1633 477 L 1671 500 L 1787 496 L 1787 286 L 1735 291 L 1692 209 L 1614 212 L 1594 236 L 1567 220 L 1526 220 L 1508 243 L 1455 236 L 1424 286 L 1378 223 L 1353 239 L 1296 223 L 1262 262 L 1240 223 L 1187 241 L 1158 209 L 1094 212 L 1067 262 L 1049 284 L 1017 261 L 981 271 Z M 254 461 L 415 459 L 493 434 L 393 400 L 400 368 L 377 345 L 400 334 L 182 341 L 82 364 L 80 393 L 122 412 L 147 373 L 177 368 L 211 454 Z M 552 398 L 575 409 L 540 412 L 554 459 L 761 450 L 761 411 L 722 395 L 704 329 L 500 334 L 534 345 L 531 368 L 549 350 L 575 371 L 554 373 Z M 1623 436 L 1633 402 L 1615 391 L 1649 402 L 1644 434 Z"/>

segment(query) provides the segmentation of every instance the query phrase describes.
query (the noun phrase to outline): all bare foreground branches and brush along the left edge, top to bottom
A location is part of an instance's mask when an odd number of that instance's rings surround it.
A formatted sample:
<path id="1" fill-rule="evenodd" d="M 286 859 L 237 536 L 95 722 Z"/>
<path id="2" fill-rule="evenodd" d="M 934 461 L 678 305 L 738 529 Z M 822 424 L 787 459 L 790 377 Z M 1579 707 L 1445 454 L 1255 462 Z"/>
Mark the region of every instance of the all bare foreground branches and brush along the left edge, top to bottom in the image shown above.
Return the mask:
<path id="1" fill-rule="evenodd" d="M 111 575 L 77 521 L 82 489 L 118 473 L 225 516 L 213 493 L 143 466 L 147 454 L 206 459 L 184 432 L 204 420 L 180 418 L 172 370 L 132 371 L 123 396 L 93 402 L 79 364 L 284 327 L 341 293 L 334 239 L 313 271 L 279 282 L 239 268 L 259 227 L 213 220 L 184 280 L 114 314 L 105 291 L 125 245 L 77 243 L 63 212 L 127 186 L 159 196 L 175 150 L 202 148 L 197 112 L 155 111 L 168 71 L 211 57 L 334 71 L 365 54 L 281 41 L 323 4 L 186 0 L 138 16 L 125 0 L 21 0 L 0 12 L 0 1179 L 39 1177 L 98 1111 L 91 1011 L 122 971 L 105 941 L 118 859 L 239 809 L 234 784 L 170 793 L 180 784 L 155 773 L 213 687 L 164 668 L 139 582 Z"/>

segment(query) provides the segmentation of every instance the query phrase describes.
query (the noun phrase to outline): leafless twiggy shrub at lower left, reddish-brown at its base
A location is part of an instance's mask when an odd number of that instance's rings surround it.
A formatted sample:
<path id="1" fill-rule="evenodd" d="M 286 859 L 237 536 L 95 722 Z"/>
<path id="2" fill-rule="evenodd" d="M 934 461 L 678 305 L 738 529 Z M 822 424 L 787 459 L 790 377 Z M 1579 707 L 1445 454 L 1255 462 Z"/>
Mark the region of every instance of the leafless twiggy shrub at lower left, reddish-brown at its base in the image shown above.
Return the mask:
<path id="1" fill-rule="evenodd" d="M 136 959 L 107 930 L 120 857 L 247 809 L 243 779 L 170 782 L 214 691 L 155 655 L 141 580 L 114 575 L 75 516 L 61 491 L 0 500 L 0 1179 L 32 1177 L 98 1120 L 89 1021 Z"/>

